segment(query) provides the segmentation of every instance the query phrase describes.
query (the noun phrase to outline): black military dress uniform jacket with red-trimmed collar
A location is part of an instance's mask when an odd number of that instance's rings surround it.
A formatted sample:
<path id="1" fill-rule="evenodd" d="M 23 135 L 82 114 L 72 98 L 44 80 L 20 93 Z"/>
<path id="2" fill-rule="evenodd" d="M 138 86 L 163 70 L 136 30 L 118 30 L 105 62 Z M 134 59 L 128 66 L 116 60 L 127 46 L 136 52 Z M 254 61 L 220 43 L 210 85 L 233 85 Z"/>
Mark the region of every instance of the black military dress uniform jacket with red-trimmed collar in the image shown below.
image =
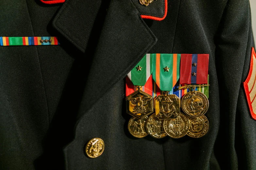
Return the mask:
<path id="1" fill-rule="evenodd" d="M 60 42 L 0 47 L 1 169 L 256 169 L 256 121 L 242 84 L 254 47 L 249 0 L 168 0 L 162 21 L 142 19 L 140 6 L 0 1 L 0 36 Z M 129 134 L 124 80 L 146 53 L 209 54 L 205 136 Z M 105 150 L 92 159 L 84 150 L 94 137 Z"/>

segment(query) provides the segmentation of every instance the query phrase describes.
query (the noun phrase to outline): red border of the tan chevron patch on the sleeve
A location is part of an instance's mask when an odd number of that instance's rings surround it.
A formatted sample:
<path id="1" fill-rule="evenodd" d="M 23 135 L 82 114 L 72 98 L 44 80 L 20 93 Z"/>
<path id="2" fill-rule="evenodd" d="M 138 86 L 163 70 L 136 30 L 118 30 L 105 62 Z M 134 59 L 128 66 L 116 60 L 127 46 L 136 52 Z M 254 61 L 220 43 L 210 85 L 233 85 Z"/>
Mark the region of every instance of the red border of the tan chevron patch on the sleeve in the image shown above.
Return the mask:
<path id="1" fill-rule="evenodd" d="M 251 117 L 252 117 L 252 119 L 256 120 L 256 113 L 253 112 L 253 108 L 252 108 L 253 99 L 250 98 L 250 91 L 249 91 L 249 87 L 248 87 L 248 82 L 250 81 L 250 78 L 252 76 L 252 70 L 253 70 L 253 56 L 256 58 L 255 50 L 252 47 L 249 74 L 243 84 L 244 84 L 244 88 L 245 88 L 246 99 L 247 99 L 247 103 L 248 103 L 249 110 L 251 113 Z M 252 88 L 256 88 L 256 87 L 252 87 Z"/>

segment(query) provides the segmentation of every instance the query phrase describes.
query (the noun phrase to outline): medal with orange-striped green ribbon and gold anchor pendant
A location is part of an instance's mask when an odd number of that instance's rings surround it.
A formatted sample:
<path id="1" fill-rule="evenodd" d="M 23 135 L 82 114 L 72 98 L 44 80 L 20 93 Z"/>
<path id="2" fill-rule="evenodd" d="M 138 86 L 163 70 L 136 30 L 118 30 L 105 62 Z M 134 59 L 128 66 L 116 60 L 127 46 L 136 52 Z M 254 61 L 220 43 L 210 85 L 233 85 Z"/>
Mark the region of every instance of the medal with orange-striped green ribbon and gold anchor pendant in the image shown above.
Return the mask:
<path id="1" fill-rule="evenodd" d="M 152 76 L 165 93 L 155 98 L 155 116 L 160 120 L 179 117 L 179 97 L 172 92 L 179 80 L 179 63 L 180 54 L 153 54 Z"/>

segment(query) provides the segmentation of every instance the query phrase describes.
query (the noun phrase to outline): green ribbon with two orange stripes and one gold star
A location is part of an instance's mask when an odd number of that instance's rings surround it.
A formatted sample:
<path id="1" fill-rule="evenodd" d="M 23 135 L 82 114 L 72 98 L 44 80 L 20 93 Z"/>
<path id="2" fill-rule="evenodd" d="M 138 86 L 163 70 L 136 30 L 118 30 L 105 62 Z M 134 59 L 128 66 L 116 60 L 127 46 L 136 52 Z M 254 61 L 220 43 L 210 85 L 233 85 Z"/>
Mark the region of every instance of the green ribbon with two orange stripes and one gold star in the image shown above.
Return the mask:
<path id="1" fill-rule="evenodd" d="M 180 54 L 152 54 L 153 79 L 161 91 L 173 92 L 179 80 Z"/>

